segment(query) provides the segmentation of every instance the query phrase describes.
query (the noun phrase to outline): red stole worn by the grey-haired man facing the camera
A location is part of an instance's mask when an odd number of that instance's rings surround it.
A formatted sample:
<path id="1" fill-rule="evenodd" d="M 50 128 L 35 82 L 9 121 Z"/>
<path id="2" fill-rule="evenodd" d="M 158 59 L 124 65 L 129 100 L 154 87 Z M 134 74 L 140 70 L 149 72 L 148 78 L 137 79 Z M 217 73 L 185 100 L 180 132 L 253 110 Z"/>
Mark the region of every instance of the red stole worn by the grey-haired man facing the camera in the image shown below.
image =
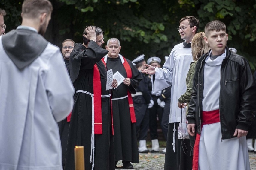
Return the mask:
<path id="1" fill-rule="evenodd" d="M 104 57 L 101 60 L 105 63 Z M 126 71 L 127 77 L 131 79 L 132 78 L 132 69 L 131 69 L 129 63 L 127 62 L 127 60 L 124 57 L 123 57 L 123 60 L 124 60 L 123 67 Z M 135 111 L 134 111 L 134 107 L 133 107 L 132 94 L 129 90 L 127 90 L 127 94 L 128 94 L 128 103 L 129 103 L 131 121 L 132 121 L 132 123 L 136 123 L 136 117 L 135 117 Z"/>

